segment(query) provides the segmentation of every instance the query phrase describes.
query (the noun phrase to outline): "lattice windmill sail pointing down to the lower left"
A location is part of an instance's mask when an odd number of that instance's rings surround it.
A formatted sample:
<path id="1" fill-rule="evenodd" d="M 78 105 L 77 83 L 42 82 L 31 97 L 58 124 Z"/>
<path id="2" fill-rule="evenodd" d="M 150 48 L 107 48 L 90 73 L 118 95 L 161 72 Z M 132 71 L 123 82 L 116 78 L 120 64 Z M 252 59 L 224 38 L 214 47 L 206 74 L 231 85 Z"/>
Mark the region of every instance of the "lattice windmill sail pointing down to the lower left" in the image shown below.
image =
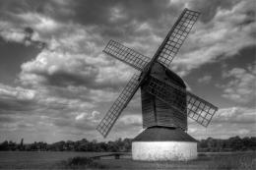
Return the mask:
<path id="1" fill-rule="evenodd" d="M 117 97 L 113 105 L 107 111 L 104 118 L 96 127 L 96 130 L 105 138 L 114 123 L 120 116 L 123 109 L 127 106 L 133 95 L 136 93 L 140 86 L 140 77 L 136 74 L 133 75 L 129 83 L 124 87 L 121 94 Z"/>

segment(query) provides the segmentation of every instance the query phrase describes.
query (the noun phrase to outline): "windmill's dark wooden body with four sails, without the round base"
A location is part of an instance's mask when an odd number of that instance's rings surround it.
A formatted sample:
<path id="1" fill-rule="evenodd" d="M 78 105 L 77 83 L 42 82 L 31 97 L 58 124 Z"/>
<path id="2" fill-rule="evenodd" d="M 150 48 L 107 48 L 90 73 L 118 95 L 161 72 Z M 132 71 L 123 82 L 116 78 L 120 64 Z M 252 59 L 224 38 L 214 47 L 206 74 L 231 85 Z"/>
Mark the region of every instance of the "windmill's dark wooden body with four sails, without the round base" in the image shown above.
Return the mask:
<path id="1" fill-rule="evenodd" d="M 185 9 L 152 59 L 114 40 L 108 42 L 104 53 L 132 66 L 142 74 L 132 77 L 98 124 L 96 129 L 104 138 L 139 87 L 142 87 L 144 96 L 144 126 L 160 125 L 187 130 L 187 117 L 202 126 L 209 125 L 218 108 L 186 91 L 182 79 L 173 76 L 174 73 L 169 74 L 168 69 L 199 15 L 199 12 Z"/>

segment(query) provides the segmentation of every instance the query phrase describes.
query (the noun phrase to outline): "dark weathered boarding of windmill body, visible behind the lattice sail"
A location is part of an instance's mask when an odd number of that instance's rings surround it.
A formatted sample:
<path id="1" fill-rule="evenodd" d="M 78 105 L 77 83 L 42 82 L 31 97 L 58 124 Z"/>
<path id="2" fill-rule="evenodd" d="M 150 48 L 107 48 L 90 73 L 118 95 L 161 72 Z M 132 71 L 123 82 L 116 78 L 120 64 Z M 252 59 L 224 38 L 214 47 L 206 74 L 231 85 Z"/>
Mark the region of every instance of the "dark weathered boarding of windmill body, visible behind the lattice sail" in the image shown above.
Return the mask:
<path id="1" fill-rule="evenodd" d="M 156 63 L 151 71 L 151 74 L 156 76 L 162 81 L 171 82 L 185 89 L 185 84 L 181 78 L 171 71 L 166 71 L 164 67 Z M 145 83 L 147 85 L 147 82 Z M 179 127 L 183 130 L 187 130 L 187 115 L 180 114 L 177 110 L 161 101 L 148 91 L 141 87 L 142 96 L 142 115 L 143 115 L 143 128 L 149 128 L 153 126 L 165 126 L 165 127 Z M 180 95 L 175 91 L 171 92 L 169 96 L 171 99 L 178 98 L 178 106 L 186 107 L 186 95 Z"/>

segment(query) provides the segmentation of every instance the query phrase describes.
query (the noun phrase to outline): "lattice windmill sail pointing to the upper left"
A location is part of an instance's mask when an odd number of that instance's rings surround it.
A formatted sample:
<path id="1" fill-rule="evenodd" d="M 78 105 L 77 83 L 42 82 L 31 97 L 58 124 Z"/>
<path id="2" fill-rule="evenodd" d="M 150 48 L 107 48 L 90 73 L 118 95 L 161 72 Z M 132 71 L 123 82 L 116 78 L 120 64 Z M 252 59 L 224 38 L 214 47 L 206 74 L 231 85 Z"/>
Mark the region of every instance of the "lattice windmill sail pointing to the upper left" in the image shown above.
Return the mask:
<path id="1" fill-rule="evenodd" d="M 108 42 L 103 52 L 139 71 L 143 71 L 144 67 L 151 60 L 149 57 L 146 57 L 114 40 L 110 40 Z"/>

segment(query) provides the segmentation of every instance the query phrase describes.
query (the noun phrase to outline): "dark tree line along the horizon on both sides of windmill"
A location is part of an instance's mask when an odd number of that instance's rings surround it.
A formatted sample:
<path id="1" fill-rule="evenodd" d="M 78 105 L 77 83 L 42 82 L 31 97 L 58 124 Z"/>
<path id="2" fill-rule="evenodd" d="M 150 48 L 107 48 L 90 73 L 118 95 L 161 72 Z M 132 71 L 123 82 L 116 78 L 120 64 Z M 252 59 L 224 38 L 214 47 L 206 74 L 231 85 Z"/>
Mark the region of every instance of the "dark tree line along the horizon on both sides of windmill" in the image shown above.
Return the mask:
<path id="1" fill-rule="evenodd" d="M 21 150 L 21 151 L 101 151 L 101 152 L 127 152 L 131 151 L 131 139 L 118 139 L 114 142 L 96 142 L 83 139 L 81 141 L 61 141 L 54 143 L 33 142 L 20 143 L 2 142 L 0 150 Z M 256 138 L 232 137 L 227 140 L 208 138 L 198 142 L 198 151 L 246 151 L 256 150 Z"/>

